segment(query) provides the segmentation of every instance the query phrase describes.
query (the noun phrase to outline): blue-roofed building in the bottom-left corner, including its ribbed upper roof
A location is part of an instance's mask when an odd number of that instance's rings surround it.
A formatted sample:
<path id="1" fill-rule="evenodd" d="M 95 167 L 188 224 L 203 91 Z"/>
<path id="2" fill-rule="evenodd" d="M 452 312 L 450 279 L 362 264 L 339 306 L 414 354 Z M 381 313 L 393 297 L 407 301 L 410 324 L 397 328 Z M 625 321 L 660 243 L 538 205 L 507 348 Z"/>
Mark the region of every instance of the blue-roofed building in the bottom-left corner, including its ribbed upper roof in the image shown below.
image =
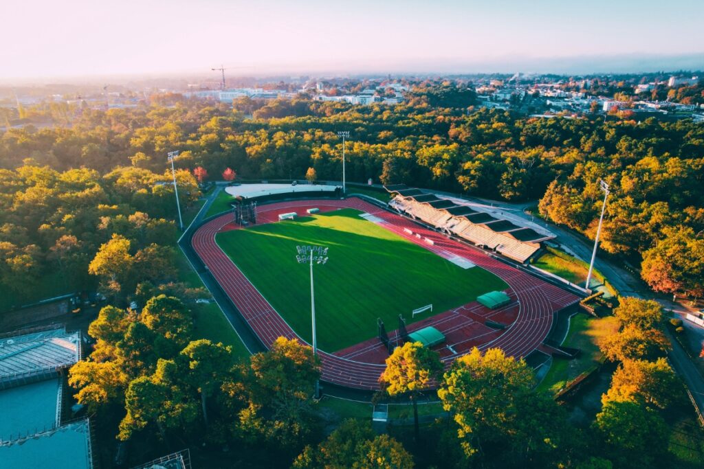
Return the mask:
<path id="1" fill-rule="evenodd" d="M 64 373 L 80 356 L 80 332 L 56 326 L 0 337 L 2 468 L 93 467 L 89 420 L 66 411 Z"/>

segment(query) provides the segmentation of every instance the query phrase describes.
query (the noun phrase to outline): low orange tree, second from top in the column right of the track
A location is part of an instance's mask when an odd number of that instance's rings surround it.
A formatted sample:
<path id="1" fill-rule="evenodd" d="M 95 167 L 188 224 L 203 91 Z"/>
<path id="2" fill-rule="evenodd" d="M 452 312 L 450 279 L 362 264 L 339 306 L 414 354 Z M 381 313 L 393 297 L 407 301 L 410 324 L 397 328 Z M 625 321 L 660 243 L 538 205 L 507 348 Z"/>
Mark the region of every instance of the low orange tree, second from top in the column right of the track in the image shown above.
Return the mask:
<path id="1" fill-rule="evenodd" d="M 601 340 L 599 348 L 611 361 L 655 359 L 670 348 L 670 341 L 657 329 L 640 329 L 634 324 Z"/>

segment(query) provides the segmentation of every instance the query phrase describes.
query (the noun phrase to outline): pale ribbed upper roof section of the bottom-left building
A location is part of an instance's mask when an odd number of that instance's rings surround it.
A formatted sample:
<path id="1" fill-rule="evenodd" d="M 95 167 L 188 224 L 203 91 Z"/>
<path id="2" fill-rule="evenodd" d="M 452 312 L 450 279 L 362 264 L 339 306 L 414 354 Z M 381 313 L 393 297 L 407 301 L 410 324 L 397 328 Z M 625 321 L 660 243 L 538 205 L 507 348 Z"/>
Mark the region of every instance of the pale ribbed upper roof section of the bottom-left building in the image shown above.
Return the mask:
<path id="1" fill-rule="evenodd" d="M 0 385 L 75 364 L 80 359 L 80 333 L 65 329 L 17 335 L 0 340 Z"/>

